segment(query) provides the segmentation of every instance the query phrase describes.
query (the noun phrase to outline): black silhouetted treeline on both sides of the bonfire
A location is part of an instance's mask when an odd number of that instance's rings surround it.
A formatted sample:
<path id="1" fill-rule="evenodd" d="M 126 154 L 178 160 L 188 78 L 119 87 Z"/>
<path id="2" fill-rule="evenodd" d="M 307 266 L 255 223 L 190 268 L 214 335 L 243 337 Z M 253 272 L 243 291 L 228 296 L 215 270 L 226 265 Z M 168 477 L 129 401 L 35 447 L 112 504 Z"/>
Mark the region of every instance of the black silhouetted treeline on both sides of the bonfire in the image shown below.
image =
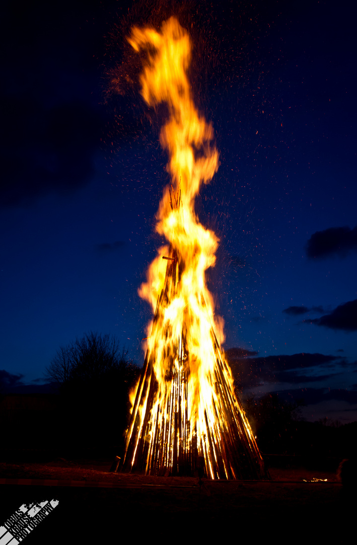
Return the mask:
<path id="1" fill-rule="evenodd" d="M 34 458 L 40 451 L 47 452 L 45 458 L 90 451 L 95 457 L 120 456 L 130 416 L 129 391 L 139 373 L 109 335 L 89 332 L 60 347 L 46 370 L 53 393 L 0 392 L 0 425 L 7 437 L 0 456 L 31 450 Z M 356 456 L 357 422 L 307 422 L 300 417 L 301 403 L 269 393 L 248 397 L 243 407 L 263 455 Z"/>

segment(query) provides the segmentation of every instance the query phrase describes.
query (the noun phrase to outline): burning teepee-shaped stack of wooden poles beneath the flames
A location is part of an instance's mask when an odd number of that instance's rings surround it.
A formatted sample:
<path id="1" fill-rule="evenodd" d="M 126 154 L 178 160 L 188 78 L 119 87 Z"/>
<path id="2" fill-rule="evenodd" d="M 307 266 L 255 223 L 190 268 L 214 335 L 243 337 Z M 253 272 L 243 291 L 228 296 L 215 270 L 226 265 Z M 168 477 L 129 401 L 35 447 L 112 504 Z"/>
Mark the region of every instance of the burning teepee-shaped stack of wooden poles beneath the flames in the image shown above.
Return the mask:
<path id="1" fill-rule="evenodd" d="M 163 326 L 163 311 L 180 289 L 182 263 L 177 250 L 170 246 L 164 287 L 157 302 L 152 334 Z M 203 298 L 202 298 L 203 299 Z M 125 455 L 120 469 L 146 475 L 195 475 L 198 457 L 205 459 L 205 473 L 212 479 L 260 479 L 264 476 L 261 454 L 232 388 L 230 370 L 221 354 L 211 328 L 215 359 L 211 373 L 213 411 L 202 420 L 205 433 L 196 433 L 189 420 L 188 381 L 190 354 L 186 350 L 187 329 L 183 320 L 181 338 L 170 359 L 165 384 L 155 375 L 155 353 L 147 350 L 126 434 Z M 164 402 L 157 403 L 158 389 L 164 387 Z M 214 399 L 214 400 L 213 400 Z M 212 417 L 213 414 L 213 417 Z M 201 458 L 202 460 L 202 458 Z"/>

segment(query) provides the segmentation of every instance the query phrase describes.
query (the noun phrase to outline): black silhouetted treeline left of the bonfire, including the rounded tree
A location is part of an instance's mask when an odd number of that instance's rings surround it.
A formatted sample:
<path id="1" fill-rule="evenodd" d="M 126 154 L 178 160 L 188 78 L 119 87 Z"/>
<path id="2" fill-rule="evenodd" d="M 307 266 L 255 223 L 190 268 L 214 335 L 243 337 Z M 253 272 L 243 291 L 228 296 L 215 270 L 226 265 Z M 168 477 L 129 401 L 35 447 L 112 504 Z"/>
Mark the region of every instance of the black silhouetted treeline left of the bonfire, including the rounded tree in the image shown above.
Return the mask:
<path id="1" fill-rule="evenodd" d="M 33 451 L 34 458 L 35 451 L 69 458 L 117 454 L 139 372 L 109 335 L 89 332 L 60 347 L 46 370 L 53 393 L 2 395 L 0 421 L 8 438 L 2 456 L 11 458 L 12 450 Z"/>

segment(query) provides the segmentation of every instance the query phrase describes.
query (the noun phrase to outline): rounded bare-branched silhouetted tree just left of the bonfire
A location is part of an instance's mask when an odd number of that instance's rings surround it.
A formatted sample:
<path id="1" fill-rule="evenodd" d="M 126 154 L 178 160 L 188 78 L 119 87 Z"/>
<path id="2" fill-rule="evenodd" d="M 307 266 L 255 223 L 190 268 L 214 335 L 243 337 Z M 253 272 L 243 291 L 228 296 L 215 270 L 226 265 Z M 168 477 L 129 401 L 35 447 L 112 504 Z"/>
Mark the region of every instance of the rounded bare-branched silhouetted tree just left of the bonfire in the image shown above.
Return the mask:
<path id="1" fill-rule="evenodd" d="M 120 443 L 128 391 L 138 373 L 114 336 L 89 332 L 60 347 L 46 377 L 59 385 L 66 440 L 87 446 Z"/>

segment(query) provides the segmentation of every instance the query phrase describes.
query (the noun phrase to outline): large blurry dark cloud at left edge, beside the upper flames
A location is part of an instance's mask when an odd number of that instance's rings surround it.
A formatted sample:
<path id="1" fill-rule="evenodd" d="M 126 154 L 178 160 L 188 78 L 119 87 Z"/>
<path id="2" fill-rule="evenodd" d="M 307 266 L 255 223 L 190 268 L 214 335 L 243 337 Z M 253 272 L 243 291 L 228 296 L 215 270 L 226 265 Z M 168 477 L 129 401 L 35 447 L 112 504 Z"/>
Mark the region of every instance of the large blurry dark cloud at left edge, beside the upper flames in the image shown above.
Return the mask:
<path id="1" fill-rule="evenodd" d="M 93 108 L 71 101 L 46 109 L 23 96 L 1 100 L 7 105 L 1 128 L 1 207 L 50 191 L 69 192 L 89 181 L 101 136 Z"/>

